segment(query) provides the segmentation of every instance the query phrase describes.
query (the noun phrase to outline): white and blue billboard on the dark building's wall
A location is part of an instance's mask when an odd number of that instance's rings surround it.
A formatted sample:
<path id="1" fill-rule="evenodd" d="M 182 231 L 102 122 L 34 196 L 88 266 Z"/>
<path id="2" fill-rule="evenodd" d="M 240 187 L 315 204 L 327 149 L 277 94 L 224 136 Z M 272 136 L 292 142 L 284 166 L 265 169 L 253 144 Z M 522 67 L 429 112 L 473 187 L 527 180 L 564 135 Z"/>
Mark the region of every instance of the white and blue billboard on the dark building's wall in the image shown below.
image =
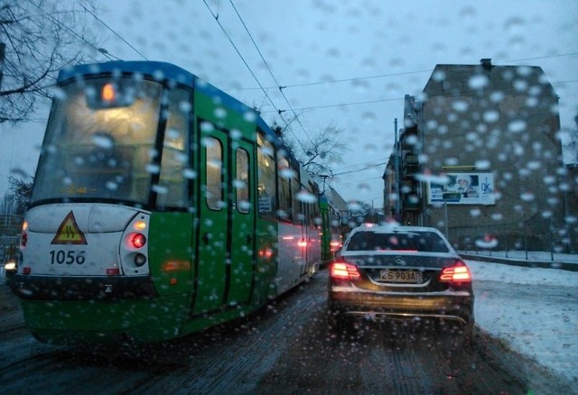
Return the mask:
<path id="1" fill-rule="evenodd" d="M 494 175 L 492 173 L 447 173 L 447 184 L 427 182 L 427 203 L 450 205 L 493 205 Z M 439 181 L 438 181 L 439 182 Z"/>

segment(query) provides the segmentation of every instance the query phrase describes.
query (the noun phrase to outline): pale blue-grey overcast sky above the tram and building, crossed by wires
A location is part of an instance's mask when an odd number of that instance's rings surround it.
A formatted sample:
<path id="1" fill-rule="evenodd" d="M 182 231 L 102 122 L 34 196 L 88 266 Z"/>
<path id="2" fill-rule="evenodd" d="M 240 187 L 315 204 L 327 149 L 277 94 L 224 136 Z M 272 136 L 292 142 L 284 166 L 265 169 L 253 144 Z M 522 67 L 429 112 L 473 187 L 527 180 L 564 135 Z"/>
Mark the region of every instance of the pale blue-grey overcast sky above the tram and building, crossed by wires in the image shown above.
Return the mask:
<path id="1" fill-rule="evenodd" d="M 578 114 L 575 0 L 98 5 L 90 23 L 109 56 L 175 63 L 261 108 L 268 124 L 284 125 L 296 114 L 291 133 L 301 141 L 329 125 L 344 129 L 350 151 L 333 172 L 345 174 L 331 179 L 331 186 L 346 199 L 376 207 L 383 204 L 381 176 L 394 142 L 394 119 L 403 127 L 403 97 L 419 95 L 436 64 L 490 58 L 496 65 L 539 66 L 560 96 L 563 130 L 574 128 Z M 33 173 L 47 113 L 0 131 L 0 193 L 9 175 Z"/>

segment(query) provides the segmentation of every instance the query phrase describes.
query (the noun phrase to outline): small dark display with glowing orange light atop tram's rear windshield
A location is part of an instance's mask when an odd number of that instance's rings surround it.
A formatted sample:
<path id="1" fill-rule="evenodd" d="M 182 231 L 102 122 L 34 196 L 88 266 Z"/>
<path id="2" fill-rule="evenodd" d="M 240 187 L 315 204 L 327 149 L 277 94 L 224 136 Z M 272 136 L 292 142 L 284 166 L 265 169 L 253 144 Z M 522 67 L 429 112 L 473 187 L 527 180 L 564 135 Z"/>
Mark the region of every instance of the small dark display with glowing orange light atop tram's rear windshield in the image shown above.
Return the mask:
<path id="1" fill-rule="evenodd" d="M 87 106 L 92 110 L 131 106 L 137 97 L 135 81 L 128 78 L 89 81 L 85 92 Z"/>

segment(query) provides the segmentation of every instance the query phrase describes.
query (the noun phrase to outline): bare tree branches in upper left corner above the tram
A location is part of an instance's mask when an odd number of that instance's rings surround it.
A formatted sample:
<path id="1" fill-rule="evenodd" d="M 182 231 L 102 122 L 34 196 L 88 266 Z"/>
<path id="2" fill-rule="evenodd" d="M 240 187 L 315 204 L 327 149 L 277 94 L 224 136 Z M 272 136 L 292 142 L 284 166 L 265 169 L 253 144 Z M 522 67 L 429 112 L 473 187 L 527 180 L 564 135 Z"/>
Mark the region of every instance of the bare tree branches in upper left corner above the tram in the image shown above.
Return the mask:
<path id="1" fill-rule="evenodd" d="M 58 71 L 94 59 L 92 0 L 0 0 L 0 128 L 31 120 Z"/>

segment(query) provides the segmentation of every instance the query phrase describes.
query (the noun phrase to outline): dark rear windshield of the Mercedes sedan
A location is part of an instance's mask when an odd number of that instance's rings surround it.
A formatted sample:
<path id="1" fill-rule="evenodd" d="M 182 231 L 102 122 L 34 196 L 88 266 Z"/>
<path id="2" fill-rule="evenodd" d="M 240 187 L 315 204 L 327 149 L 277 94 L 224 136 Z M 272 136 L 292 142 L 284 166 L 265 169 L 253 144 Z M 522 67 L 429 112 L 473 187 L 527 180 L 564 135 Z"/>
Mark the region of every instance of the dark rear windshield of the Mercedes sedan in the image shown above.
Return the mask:
<path id="1" fill-rule="evenodd" d="M 433 232 L 352 234 L 346 251 L 409 251 L 448 253 L 448 247 L 439 234 Z"/>

